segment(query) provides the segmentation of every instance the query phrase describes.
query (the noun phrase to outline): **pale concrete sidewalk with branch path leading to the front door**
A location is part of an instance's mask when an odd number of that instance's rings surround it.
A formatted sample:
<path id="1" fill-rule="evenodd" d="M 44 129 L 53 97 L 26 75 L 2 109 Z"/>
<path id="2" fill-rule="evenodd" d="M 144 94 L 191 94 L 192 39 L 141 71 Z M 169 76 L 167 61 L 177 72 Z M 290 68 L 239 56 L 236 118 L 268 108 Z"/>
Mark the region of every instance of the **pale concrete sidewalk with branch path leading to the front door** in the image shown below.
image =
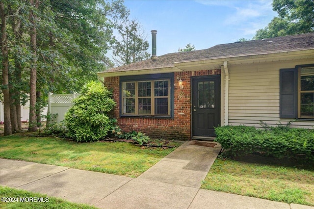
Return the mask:
<path id="1" fill-rule="evenodd" d="M 314 209 L 200 189 L 221 147 L 190 143 L 138 178 L 0 159 L 0 185 L 104 209 Z"/>

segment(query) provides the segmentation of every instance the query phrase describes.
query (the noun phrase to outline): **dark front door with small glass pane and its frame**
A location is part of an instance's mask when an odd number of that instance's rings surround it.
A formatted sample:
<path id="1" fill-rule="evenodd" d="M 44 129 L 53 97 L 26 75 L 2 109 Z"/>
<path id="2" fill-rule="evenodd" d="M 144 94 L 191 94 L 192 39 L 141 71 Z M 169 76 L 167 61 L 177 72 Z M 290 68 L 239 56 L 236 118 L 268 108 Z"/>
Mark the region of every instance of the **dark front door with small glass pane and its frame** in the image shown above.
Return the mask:
<path id="1" fill-rule="evenodd" d="M 192 77 L 192 136 L 215 136 L 220 125 L 220 75 Z"/>

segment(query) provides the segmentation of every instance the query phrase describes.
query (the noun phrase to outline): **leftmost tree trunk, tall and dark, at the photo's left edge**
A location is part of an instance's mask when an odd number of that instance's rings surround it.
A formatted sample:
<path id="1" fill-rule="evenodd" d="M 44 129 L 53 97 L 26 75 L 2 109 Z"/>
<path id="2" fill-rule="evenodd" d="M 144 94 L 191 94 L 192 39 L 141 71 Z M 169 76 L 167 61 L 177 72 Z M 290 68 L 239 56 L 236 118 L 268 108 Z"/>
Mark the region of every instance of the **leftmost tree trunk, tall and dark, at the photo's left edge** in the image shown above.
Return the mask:
<path id="1" fill-rule="evenodd" d="M 0 1 L 0 17 L 1 17 L 1 39 L 0 46 L 2 52 L 2 93 L 4 103 L 4 135 L 12 134 L 11 118 L 10 118 L 10 93 L 9 93 L 9 60 L 8 45 L 6 36 L 6 14 L 4 4 Z"/>

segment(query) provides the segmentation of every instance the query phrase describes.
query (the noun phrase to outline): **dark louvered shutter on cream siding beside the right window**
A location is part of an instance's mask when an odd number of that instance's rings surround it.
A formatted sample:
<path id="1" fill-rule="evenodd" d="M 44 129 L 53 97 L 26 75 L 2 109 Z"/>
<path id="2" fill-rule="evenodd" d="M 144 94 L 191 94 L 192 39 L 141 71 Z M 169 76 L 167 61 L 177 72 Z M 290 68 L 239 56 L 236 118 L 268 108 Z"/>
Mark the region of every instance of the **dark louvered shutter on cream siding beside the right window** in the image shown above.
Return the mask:
<path id="1" fill-rule="evenodd" d="M 280 69 L 280 117 L 296 118 L 297 70 Z"/>

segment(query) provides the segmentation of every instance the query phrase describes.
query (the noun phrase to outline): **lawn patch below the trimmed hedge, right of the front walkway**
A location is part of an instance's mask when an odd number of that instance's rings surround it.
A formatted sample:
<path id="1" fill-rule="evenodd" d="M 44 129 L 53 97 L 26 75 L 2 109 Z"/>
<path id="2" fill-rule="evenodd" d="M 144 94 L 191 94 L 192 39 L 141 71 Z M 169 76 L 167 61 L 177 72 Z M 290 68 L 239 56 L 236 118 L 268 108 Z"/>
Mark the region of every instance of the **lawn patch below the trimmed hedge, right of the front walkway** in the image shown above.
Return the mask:
<path id="1" fill-rule="evenodd" d="M 314 206 L 314 167 L 217 158 L 202 188 Z"/>

